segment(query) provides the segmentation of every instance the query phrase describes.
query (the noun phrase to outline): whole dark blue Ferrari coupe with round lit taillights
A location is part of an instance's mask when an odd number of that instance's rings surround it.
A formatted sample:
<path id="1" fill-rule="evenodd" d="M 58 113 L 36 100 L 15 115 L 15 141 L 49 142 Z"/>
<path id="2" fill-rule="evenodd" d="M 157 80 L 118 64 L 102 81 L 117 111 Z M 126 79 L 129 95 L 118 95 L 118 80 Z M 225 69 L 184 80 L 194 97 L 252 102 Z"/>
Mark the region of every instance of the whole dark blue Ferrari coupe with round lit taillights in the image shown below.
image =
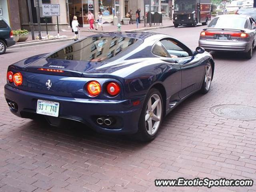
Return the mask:
<path id="1" fill-rule="evenodd" d="M 212 56 L 149 32 L 88 36 L 8 67 L 13 114 L 82 122 L 97 132 L 156 137 L 163 117 L 191 94 L 210 89 Z"/>

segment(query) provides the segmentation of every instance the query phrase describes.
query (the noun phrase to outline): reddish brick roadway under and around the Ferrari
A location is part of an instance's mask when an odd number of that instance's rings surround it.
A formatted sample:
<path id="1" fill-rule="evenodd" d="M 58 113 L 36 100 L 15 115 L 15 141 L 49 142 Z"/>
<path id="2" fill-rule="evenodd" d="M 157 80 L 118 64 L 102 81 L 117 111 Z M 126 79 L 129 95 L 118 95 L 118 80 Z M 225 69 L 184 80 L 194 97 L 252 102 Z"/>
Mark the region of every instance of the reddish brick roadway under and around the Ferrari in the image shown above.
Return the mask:
<path id="1" fill-rule="evenodd" d="M 169 28 L 193 49 L 197 28 Z M 64 44 L 64 43 L 62 43 Z M 4 100 L 7 66 L 60 44 L 9 50 L 0 56 L 1 192 L 255 192 L 253 187 L 160 187 L 154 179 L 233 178 L 256 180 L 256 121 L 232 120 L 210 112 L 219 104 L 256 106 L 256 52 L 213 54 L 216 71 L 210 92 L 194 94 L 163 121 L 158 137 L 141 143 L 106 136 L 81 124 L 60 128 L 12 115 Z"/>

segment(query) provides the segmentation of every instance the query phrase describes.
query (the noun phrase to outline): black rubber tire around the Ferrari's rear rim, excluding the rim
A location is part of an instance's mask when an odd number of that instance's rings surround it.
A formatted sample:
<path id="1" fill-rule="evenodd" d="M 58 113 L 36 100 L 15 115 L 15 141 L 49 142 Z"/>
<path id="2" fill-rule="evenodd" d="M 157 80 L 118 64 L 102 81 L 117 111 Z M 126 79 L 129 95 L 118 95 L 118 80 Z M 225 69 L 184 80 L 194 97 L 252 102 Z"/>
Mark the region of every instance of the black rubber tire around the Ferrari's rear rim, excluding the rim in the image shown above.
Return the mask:
<path id="1" fill-rule="evenodd" d="M 161 100 L 161 106 L 162 106 L 162 114 L 161 114 L 161 118 L 160 118 L 160 124 L 158 126 L 158 129 L 156 130 L 156 132 L 152 135 L 148 134 L 147 132 L 147 128 L 146 128 L 146 123 L 145 123 L 145 116 L 146 116 L 146 111 L 147 111 L 147 106 L 148 106 L 148 101 L 149 99 L 154 95 L 157 94 L 160 97 Z M 138 132 L 136 133 L 136 138 L 140 141 L 151 141 L 154 138 L 156 138 L 156 135 L 159 131 L 159 128 L 161 126 L 162 123 L 162 119 L 163 119 L 163 114 L 164 114 L 164 106 L 163 106 L 163 99 L 162 99 L 162 95 L 161 93 L 156 89 L 156 88 L 152 88 L 144 101 L 143 104 L 143 108 L 142 108 L 142 112 L 140 114 L 140 120 L 139 120 L 139 124 L 138 124 Z"/>

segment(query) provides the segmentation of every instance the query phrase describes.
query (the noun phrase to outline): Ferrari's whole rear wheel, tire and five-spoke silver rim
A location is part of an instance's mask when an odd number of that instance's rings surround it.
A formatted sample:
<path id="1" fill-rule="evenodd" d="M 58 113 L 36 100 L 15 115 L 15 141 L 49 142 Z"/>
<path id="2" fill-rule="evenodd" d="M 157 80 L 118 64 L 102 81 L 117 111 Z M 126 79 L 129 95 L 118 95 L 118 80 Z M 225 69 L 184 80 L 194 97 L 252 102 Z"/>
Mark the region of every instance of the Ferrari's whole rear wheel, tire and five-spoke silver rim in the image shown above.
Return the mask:
<path id="1" fill-rule="evenodd" d="M 159 130 L 163 116 L 163 100 L 161 93 L 152 88 L 146 96 L 140 114 L 138 139 L 142 141 L 153 140 Z"/>

